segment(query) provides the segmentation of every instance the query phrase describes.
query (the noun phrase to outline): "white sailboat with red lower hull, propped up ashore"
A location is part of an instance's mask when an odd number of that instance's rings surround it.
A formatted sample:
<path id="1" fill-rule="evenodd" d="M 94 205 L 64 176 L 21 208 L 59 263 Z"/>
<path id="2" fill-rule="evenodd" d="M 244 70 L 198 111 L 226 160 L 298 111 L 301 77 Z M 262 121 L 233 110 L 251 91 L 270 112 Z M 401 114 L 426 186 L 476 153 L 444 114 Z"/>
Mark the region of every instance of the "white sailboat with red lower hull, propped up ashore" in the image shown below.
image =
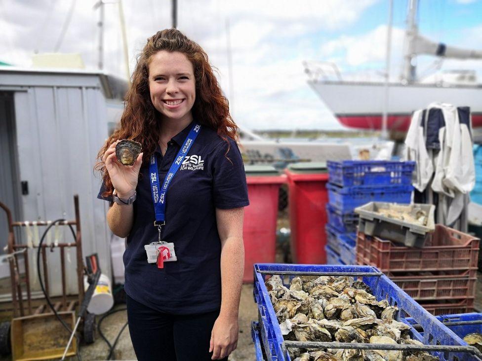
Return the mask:
<path id="1" fill-rule="evenodd" d="M 475 71 L 443 72 L 428 79 L 417 77 L 416 57 L 482 59 L 482 51 L 461 49 L 434 42 L 418 33 L 417 0 L 410 0 L 405 31 L 404 66 L 399 82 L 344 80 L 336 64 L 305 62 L 308 83 L 341 124 L 350 128 L 382 129 L 384 108 L 387 129 L 405 132 L 412 111 L 432 102 L 468 106 L 472 126 L 482 127 L 482 84 Z M 384 103 L 388 92 L 387 104 Z M 347 101 L 349 99 L 349 101 Z"/>

